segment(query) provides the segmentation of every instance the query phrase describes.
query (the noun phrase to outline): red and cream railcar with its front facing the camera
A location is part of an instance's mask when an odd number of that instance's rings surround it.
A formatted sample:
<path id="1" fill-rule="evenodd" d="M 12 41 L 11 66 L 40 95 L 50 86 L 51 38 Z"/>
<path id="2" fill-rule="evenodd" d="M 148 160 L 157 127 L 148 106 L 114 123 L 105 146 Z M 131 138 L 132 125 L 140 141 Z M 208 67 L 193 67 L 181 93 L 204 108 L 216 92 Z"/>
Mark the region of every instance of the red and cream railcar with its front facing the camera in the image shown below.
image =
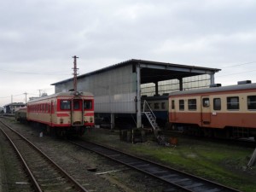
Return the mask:
<path id="1" fill-rule="evenodd" d="M 89 92 L 61 92 L 27 102 L 26 119 L 57 131 L 79 131 L 94 125 L 94 97 Z"/>

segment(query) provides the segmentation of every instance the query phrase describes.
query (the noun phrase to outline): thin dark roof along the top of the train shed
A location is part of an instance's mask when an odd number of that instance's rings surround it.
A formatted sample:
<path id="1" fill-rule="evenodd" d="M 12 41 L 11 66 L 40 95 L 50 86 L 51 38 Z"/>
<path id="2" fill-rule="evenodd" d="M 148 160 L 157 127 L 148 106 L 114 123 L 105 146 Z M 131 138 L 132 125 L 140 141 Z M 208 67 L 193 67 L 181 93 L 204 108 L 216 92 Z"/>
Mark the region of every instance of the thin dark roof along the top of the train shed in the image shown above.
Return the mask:
<path id="1" fill-rule="evenodd" d="M 144 60 L 131 59 L 131 60 L 128 60 L 128 61 L 123 61 L 123 62 L 114 64 L 114 65 L 109 66 L 109 67 L 104 67 L 104 68 L 96 70 L 94 72 L 79 75 L 78 79 L 81 79 L 81 78 L 84 78 L 86 76 L 90 76 L 90 75 L 93 75 L 93 74 L 96 74 L 96 73 L 106 72 L 106 71 L 109 71 L 113 68 L 118 68 L 118 67 L 123 67 L 123 66 L 126 66 L 126 65 L 133 65 L 133 64 L 164 66 L 166 68 L 167 67 L 188 68 L 188 69 L 191 69 L 191 70 L 192 69 L 193 70 L 198 69 L 198 70 L 203 70 L 203 71 L 211 71 L 212 73 L 217 73 L 221 70 L 221 69 L 218 69 L 218 68 L 196 67 L 196 66 L 180 65 L 180 64 L 166 63 L 166 62 L 159 62 L 159 61 L 144 61 Z M 51 85 L 63 84 L 63 83 L 67 83 L 67 82 L 72 81 L 72 80 L 73 80 L 73 78 L 66 79 L 66 80 L 63 80 L 63 81 L 60 81 L 60 82 L 56 82 L 56 83 L 51 84 Z"/>

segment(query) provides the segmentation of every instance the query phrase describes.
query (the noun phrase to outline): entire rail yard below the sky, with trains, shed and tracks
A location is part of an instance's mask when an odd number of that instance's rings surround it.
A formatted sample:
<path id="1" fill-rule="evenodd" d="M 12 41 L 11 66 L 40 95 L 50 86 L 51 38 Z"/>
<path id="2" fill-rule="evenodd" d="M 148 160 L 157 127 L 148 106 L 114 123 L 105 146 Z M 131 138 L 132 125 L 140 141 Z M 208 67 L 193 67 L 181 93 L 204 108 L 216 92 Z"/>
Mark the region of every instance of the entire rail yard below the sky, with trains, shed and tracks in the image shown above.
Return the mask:
<path id="1" fill-rule="evenodd" d="M 256 192 L 255 83 L 141 60 L 77 77 L 73 58 L 55 94 L 5 106 L 1 191 Z"/>

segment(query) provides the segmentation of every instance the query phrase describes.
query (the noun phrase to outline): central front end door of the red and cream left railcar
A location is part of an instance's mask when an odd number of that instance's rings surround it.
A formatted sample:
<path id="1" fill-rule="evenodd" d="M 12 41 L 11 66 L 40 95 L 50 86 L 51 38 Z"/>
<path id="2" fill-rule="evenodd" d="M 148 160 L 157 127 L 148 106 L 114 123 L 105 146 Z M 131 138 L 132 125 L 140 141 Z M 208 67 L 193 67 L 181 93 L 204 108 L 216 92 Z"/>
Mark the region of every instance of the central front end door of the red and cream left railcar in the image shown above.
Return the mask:
<path id="1" fill-rule="evenodd" d="M 71 122 L 73 126 L 84 125 L 84 102 L 82 99 L 73 99 Z"/>

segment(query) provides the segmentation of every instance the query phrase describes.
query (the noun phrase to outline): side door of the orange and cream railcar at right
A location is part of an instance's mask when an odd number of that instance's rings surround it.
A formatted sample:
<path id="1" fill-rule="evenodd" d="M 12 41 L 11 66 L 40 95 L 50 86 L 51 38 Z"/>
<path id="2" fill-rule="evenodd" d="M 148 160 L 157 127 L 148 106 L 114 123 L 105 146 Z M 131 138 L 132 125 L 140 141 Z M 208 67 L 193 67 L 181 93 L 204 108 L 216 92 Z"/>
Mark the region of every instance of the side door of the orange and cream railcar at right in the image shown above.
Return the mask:
<path id="1" fill-rule="evenodd" d="M 211 107 L 209 96 L 201 97 L 201 125 L 209 126 L 211 124 Z"/>

